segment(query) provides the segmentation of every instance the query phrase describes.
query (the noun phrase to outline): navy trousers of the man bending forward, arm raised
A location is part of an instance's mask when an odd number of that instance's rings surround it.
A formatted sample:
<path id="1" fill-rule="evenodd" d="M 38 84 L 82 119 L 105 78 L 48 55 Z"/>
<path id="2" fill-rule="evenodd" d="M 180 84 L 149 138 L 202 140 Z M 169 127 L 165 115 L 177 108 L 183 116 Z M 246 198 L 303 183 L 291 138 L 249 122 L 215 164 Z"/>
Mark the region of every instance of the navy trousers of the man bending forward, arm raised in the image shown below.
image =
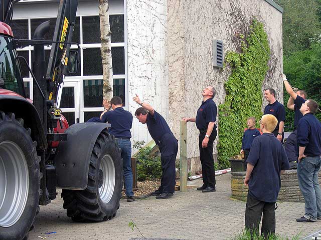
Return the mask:
<path id="1" fill-rule="evenodd" d="M 172 133 L 166 133 L 158 142 L 159 151 L 161 151 L 162 161 L 162 179 L 160 192 L 175 191 L 175 161 L 178 152 L 178 140 Z"/>

